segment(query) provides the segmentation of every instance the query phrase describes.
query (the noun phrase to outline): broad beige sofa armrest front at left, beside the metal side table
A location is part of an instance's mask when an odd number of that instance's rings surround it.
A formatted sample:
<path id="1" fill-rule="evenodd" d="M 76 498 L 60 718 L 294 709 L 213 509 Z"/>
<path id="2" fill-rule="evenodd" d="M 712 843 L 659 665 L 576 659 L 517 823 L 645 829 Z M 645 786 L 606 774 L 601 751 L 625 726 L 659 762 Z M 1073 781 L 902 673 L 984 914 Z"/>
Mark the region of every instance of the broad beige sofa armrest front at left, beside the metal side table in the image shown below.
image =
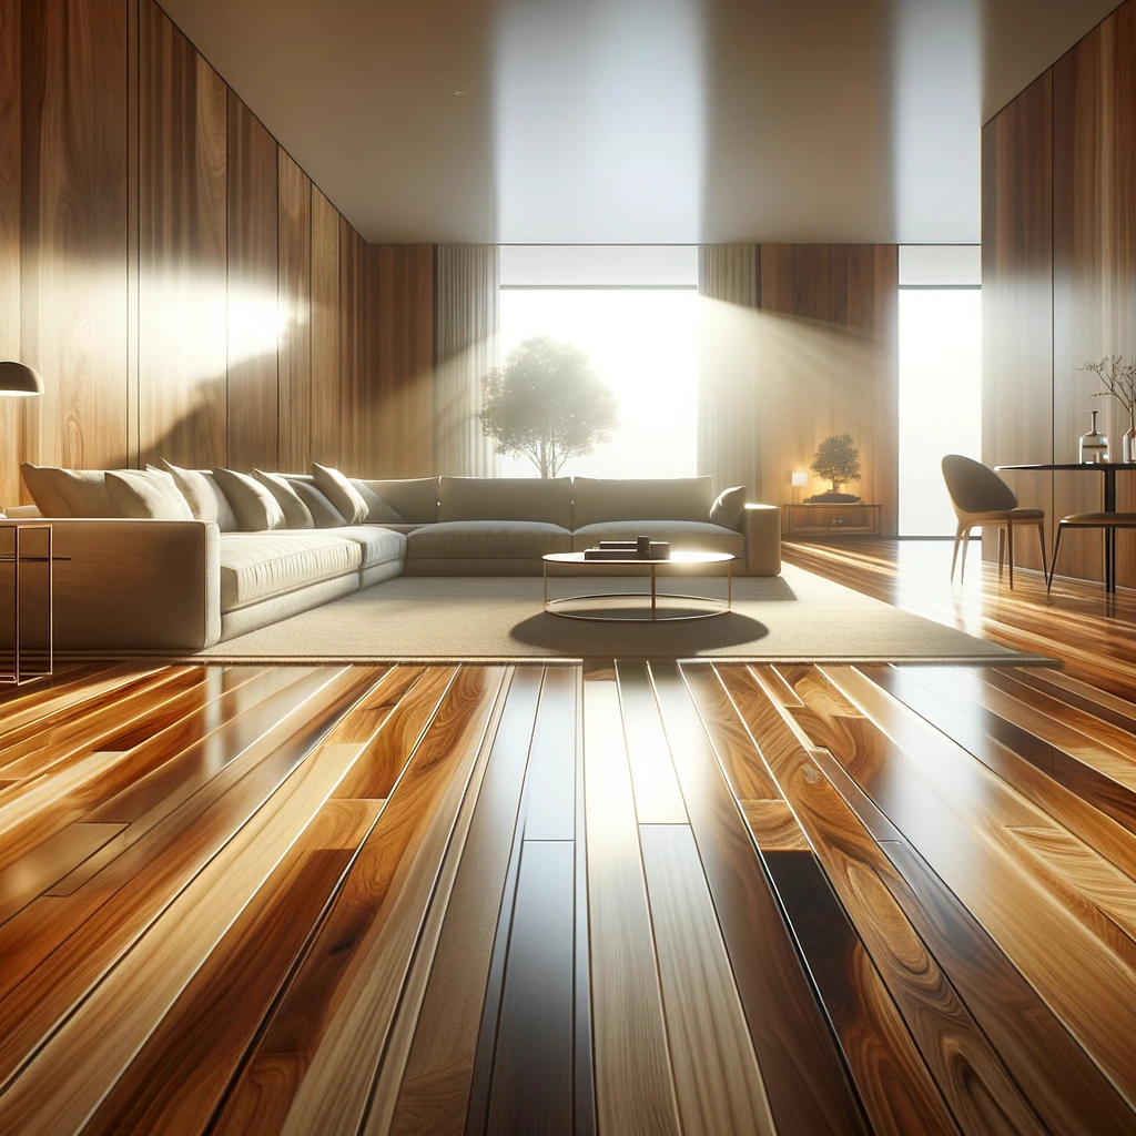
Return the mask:
<path id="1" fill-rule="evenodd" d="M 55 556 L 70 558 L 55 565 L 57 650 L 181 653 L 220 637 L 216 525 L 52 520 L 51 538 Z M 27 587 L 42 598 L 43 574 L 30 571 Z"/>

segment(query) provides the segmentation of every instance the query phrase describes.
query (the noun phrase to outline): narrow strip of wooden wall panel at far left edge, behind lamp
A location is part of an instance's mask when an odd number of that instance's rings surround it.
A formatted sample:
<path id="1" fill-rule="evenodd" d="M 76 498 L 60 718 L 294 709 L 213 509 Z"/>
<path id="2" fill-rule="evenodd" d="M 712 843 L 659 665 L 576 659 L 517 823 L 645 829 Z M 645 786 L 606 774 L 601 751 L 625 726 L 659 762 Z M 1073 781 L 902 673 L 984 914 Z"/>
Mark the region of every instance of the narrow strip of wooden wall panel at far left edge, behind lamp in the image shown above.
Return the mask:
<path id="1" fill-rule="evenodd" d="M 19 0 L 0 0 L 0 359 L 19 359 Z M 0 398 L 0 507 L 19 501 L 25 399 Z"/>

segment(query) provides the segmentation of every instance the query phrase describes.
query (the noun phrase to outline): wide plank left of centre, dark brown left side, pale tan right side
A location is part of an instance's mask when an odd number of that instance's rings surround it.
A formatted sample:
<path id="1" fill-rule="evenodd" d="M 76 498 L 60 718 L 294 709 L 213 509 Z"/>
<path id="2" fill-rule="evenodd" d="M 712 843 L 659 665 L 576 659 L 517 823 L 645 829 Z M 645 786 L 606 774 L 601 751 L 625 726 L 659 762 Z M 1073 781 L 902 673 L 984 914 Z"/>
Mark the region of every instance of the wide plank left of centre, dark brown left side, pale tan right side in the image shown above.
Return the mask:
<path id="1" fill-rule="evenodd" d="M 218 1133 L 310 1131 L 317 1124 L 328 1134 L 357 1130 L 502 678 L 500 668 L 459 671 L 228 1097 Z"/>

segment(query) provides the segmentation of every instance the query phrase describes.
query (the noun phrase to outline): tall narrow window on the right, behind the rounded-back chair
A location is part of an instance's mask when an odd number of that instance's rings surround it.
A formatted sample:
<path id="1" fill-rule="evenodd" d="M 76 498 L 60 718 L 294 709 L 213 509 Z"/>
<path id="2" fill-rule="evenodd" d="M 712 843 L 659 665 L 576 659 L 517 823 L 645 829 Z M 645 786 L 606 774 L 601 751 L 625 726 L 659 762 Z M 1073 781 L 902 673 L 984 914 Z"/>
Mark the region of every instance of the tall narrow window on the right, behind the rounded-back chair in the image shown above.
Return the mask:
<path id="1" fill-rule="evenodd" d="M 952 536 L 943 456 L 982 457 L 982 291 L 971 245 L 900 250 L 900 535 Z"/>

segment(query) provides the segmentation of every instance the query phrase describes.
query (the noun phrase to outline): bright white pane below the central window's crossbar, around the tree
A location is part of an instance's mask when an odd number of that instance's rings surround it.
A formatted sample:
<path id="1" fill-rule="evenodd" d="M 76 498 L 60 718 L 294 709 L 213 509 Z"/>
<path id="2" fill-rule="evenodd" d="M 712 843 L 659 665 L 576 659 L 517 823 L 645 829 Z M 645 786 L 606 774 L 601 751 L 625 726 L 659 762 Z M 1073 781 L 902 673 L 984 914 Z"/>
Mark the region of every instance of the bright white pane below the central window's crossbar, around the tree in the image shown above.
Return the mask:
<path id="1" fill-rule="evenodd" d="M 570 459 L 562 476 L 696 473 L 699 310 L 693 287 L 502 289 L 502 360 L 537 335 L 575 343 L 619 400 L 615 437 Z M 537 476 L 527 458 L 499 460 L 502 477 Z"/>

